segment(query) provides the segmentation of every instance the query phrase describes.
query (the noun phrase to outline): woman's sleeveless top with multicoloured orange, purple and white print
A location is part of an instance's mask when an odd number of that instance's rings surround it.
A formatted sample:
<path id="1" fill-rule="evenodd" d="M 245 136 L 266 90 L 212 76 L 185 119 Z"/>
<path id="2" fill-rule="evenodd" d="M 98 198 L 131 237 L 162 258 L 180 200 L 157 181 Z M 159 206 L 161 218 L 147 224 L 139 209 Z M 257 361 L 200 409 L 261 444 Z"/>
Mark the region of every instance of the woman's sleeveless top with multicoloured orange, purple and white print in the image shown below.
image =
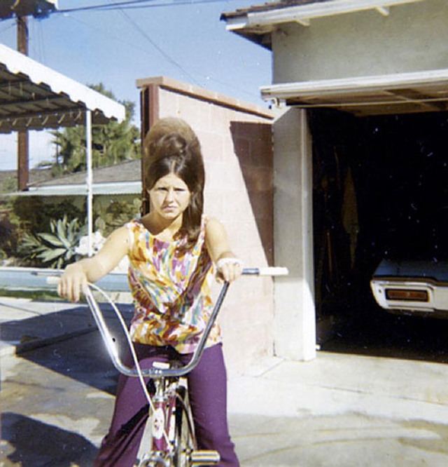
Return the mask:
<path id="1" fill-rule="evenodd" d="M 213 310 L 211 281 L 214 267 L 205 245 L 203 217 L 199 238 L 188 250 L 179 250 L 185 238 L 173 242 L 155 238 L 139 219 L 126 224 L 131 245 L 128 280 L 135 312 L 131 323 L 134 342 L 173 346 L 190 353 L 200 341 Z M 206 346 L 221 341 L 215 324 Z"/>

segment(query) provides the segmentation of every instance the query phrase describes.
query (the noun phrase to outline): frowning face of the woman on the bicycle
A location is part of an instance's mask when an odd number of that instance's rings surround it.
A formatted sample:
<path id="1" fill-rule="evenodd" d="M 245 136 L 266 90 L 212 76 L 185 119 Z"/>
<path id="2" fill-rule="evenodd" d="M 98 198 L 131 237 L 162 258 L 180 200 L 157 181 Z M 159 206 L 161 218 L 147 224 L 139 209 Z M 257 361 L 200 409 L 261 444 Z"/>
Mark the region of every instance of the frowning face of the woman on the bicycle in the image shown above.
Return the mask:
<path id="1" fill-rule="evenodd" d="M 174 173 L 160 177 L 148 193 L 151 211 L 164 219 L 176 219 L 190 204 L 191 194 L 186 182 Z"/>

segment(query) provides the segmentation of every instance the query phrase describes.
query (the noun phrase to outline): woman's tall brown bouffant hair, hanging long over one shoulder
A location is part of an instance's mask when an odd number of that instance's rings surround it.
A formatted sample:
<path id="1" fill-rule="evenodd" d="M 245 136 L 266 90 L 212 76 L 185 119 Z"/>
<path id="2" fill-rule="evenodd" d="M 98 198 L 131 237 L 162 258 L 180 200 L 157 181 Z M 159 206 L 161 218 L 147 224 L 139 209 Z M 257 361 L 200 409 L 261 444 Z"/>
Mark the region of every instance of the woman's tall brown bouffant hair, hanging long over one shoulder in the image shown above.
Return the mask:
<path id="1" fill-rule="evenodd" d="M 186 238 L 186 248 L 189 248 L 200 234 L 204 208 L 204 161 L 197 135 L 182 119 L 160 119 L 144 140 L 144 157 L 146 189 L 150 190 L 160 178 L 174 173 L 190 190 L 190 204 L 183 212 L 177 234 L 178 238 Z"/>

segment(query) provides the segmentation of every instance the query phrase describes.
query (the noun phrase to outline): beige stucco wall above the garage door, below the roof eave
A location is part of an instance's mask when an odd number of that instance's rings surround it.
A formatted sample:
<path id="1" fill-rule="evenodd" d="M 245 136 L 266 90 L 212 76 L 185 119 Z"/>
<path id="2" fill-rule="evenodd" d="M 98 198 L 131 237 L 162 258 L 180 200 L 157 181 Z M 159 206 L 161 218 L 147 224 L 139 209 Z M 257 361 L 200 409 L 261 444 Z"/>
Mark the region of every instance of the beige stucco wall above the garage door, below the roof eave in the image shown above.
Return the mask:
<path id="1" fill-rule="evenodd" d="M 280 25 L 272 34 L 274 83 L 448 68 L 448 2 Z"/>

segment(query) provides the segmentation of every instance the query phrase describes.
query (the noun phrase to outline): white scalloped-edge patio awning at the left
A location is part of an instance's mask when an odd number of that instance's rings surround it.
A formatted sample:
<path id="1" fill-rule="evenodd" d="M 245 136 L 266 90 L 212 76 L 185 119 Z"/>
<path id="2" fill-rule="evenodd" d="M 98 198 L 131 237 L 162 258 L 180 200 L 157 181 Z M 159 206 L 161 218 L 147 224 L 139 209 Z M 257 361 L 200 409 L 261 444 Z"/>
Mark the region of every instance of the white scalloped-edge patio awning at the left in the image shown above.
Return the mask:
<path id="1" fill-rule="evenodd" d="M 0 44 L 0 133 L 123 121 L 125 107 Z"/>

